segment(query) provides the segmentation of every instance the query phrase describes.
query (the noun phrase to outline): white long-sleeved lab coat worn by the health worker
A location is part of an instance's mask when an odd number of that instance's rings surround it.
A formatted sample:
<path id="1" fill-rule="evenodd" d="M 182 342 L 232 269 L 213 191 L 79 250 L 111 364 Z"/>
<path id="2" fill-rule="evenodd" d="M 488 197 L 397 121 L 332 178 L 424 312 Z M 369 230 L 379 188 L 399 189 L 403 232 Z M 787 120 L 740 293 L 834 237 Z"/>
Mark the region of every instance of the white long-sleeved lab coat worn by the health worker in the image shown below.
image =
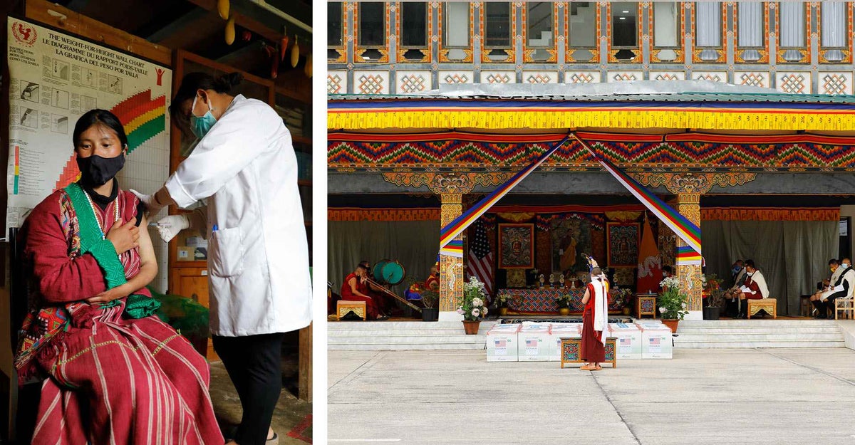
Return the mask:
<path id="1" fill-rule="evenodd" d="M 250 336 L 309 325 L 297 156 L 273 108 L 235 97 L 166 187 L 180 208 L 208 198 L 212 334 Z"/>

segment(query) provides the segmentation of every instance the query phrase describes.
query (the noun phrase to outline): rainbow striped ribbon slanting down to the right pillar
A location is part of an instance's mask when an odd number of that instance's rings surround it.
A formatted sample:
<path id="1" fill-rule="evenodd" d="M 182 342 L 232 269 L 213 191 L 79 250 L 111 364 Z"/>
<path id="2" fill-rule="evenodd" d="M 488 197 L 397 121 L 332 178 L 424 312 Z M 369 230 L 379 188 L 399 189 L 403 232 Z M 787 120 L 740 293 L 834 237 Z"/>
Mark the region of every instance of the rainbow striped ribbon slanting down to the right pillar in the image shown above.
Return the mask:
<path id="1" fill-rule="evenodd" d="M 663 200 L 659 199 L 658 196 L 654 195 L 650 190 L 647 190 L 644 185 L 641 185 L 635 179 L 632 179 L 627 173 L 623 173 L 623 171 L 618 168 L 616 165 L 612 164 L 609 161 L 606 161 L 604 158 L 598 156 L 591 147 L 585 143 L 585 141 L 581 140 L 575 134 L 572 135 L 579 143 L 582 144 L 583 147 L 588 149 L 594 158 L 605 167 L 606 170 L 611 173 L 612 176 L 617 179 L 618 182 L 623 184 L 624 187 L 629 190 L 639 201 L 645 205 L 653 214 L 656 214 L 656 217 L 668 225 L 668 227 L 680 237 L 681 240 L 685 241 L 688 246 L 687 249 L 693 250 L 693 256 L 685 256 L 684 261 L 692 261 L 692 262 L 680 262 L 679 255 L 677 257 L 677 264 L 700 264 L 700 227 L 694 225 L 694 223 L 690 220 L 687 220 L 685 216 L 681 215 L 677 212 L 673 207 L 666 204 Z M 678 251 L 679 253 L 679 251 Z M 697 256 L 697 263 L 695 261 L 695 256 Z"/>

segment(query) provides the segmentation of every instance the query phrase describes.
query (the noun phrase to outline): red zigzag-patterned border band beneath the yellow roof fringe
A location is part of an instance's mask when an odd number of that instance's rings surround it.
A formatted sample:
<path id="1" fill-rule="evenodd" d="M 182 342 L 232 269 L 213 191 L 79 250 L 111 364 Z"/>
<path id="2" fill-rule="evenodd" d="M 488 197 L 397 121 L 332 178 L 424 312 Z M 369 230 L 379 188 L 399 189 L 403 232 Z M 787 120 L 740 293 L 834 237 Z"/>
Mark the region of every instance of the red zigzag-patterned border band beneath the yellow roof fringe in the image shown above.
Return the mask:
<path id="1" fill-rule="evenodd" d="M 622 167 L 855 168 L 855 138 L 818 135 L 718 136 L 614 135 L 579 132 L 598 155 Z M 329 133 L 327 162 L 344 167 L 510 167 L 528 165 L 563 134 L 435 135 Z M 598 167 L 575 141 L 564 143 L 543 164 Z"/>

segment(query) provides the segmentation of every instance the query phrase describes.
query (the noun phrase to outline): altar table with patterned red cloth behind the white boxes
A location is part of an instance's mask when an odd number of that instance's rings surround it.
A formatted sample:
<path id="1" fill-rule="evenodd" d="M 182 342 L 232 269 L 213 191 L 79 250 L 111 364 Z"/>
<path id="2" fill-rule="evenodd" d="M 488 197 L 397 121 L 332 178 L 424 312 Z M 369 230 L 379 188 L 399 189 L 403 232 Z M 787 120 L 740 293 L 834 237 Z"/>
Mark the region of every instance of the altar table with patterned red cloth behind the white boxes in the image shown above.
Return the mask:
<path id="1" fill-rule="evenodd" d="M 558 296 L 570 296 L 570 313 L 581 315 L 584 310 L 582 297 L 585 288 L 580 289 L 499 289 L 498 296 L 509 296 L 508 312 L 522 314 L 558 313 Z M 621 313 L 621 307 L 615 305 L 615 290 L 609 291 L 609 313 Z"/>

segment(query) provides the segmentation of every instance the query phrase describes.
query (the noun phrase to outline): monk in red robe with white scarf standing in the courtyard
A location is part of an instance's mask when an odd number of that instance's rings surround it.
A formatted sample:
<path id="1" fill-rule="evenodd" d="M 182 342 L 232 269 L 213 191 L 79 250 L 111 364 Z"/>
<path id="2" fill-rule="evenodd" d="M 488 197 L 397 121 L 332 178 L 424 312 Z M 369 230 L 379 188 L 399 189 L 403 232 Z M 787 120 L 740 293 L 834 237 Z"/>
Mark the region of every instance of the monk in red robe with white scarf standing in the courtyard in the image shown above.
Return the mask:
<path id="1" fill-rule="evenodd" d="M 596 263 L 594 263 L 596 264 Z M 582 297 L 585 312 L 582 313 L 582 343 L 580 358 L 587 363 L 583 371 L 600 371 L 600 362 L 605 361 L 605 331 L 609 326 L 609 284 L 602 269 L 591 269 L 591 283 Z"/>

